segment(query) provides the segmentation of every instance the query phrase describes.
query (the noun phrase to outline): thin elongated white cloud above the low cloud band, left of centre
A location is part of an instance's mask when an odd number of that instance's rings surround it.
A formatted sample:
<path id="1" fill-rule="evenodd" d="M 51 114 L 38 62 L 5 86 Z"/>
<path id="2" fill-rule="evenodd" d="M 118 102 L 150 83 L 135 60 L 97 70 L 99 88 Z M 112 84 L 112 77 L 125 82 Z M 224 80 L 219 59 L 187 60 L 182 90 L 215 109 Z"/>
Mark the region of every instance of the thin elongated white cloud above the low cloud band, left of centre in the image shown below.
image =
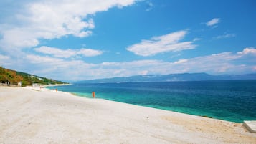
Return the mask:
<path id="1" fill-rule="evenodd" d="M 95 49 L 58 49 L 56 47 L 38 47 L 34 49 L 37 52 L 41 52 L 43 54 L 50 54 L 54 57 L 64 57 L 64 58 L 69 58 L 69 57 L 74 57 L 77 55 L 83 55 L 85 57 L 94 57 L 98 56 L 100 54 L 103 54 L 102 51 L 100 50 L 95 50 Z"/>

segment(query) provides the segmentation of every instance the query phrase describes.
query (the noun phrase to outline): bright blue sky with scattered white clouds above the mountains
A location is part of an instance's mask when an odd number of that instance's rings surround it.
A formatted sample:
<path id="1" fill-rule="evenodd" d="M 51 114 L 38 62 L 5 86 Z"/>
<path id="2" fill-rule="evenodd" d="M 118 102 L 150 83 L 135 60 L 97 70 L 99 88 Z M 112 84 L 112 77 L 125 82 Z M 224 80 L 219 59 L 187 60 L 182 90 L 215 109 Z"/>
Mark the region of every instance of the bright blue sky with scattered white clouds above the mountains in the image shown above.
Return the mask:
<path id="1" fill-rule="evenodd" d="M 1 0 L 0 66 L 54 80 L 256 72 L 254 0 Z"/>

